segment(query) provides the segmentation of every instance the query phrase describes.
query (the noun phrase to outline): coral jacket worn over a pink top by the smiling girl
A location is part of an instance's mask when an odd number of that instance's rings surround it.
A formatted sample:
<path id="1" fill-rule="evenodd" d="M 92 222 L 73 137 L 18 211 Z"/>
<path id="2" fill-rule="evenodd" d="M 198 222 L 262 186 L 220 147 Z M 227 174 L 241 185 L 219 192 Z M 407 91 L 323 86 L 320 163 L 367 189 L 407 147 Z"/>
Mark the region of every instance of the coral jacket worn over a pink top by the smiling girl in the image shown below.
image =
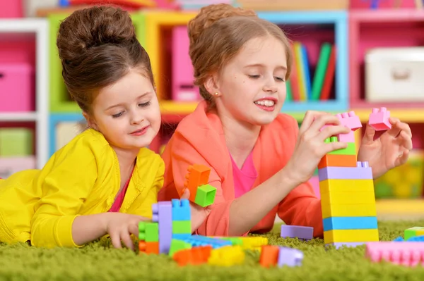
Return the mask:
<path id="1" fill-rule="evenodd" d="M 211 214 L 197 233 L 228 236 L 230 206 L 235 199 L 232 163 L 220 119 L 216 114 L 206 113 L 206 108 L 206 102 L 201 101 L 196 110 L 179 123 L 168 142 L 163 152 L 165 182 L 158 201 L 179 198 L 175 187 L 182 188 L 190 165 L 209 166 L 209 184 L 217 188 L 216 199 Z M 262 127 L 253 149 L 258 177 L 252 188 L 285 166 L 293 154 L 297 137 L 298 123 L 290 115 L 281 113 L 271 124 Z M 309 183 L 293 189 L 250 232 L 269 232 L 277 213 L 286 224 L 312 226 L 314 236 L 322 237 L 321 202 Z"/>

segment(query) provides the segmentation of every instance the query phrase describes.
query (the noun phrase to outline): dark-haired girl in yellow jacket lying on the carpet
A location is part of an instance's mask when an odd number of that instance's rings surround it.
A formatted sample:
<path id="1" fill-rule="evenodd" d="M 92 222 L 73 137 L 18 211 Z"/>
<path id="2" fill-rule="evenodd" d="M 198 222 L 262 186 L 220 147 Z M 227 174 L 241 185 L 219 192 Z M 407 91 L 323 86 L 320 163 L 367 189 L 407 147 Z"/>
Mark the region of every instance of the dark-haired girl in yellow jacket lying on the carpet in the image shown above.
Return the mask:
<path id="1" fill-rule="evenodd" d="M 109 234 L 132 249 L 163 185 L 163 161 L 146 148 L 160 127 L 150 59 L 129 14 L 112 7 L 72 13 L 57 47 L 89 128 L 42 170 L 0 180 L 0 242 L 81 246 Z"/>

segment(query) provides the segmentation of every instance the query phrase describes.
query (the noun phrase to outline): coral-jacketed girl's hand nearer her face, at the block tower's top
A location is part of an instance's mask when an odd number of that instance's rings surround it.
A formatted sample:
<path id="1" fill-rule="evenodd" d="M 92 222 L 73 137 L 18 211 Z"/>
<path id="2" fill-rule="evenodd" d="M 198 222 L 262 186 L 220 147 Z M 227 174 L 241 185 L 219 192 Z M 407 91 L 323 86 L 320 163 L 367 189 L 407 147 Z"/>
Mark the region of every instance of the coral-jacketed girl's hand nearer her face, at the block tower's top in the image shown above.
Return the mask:
<path id="1" fill-rule="evenodd" d="M 322 131 L 319 131 L 324 125 Z M 322 157 L 331 151 L 344 149 L 346 142 L 324 142 L 326 138 L 351 132 L 349 127 L 340 125 L 340 120 L 329 113 L 307 111 L 299 129 L 293 155 L 288 161 L 288 177 L 293 179 L 295 186 L 310 180 Z"/>

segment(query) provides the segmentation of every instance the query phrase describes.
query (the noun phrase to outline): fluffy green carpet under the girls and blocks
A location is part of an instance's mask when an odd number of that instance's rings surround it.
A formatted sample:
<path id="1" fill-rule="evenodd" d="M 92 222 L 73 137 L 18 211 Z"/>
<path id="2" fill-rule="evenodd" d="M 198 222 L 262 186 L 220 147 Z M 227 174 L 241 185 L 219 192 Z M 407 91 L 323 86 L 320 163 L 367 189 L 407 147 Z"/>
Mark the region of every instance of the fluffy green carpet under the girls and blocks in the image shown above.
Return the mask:
<path id="1" fill-rule="evenodd" d="M 424 220 L 379 222 L 380 240 L 390 241 Z M 0 280 L 424 280 L 424 267 L 406 268 L 370 263 L 364 246 L 325 250 L 323 241 L 278 237 L 279 227 L 266 235 L 270 244 L 298 248 L 305 254 L 298 268 L 261 268 L 259 254 L 247 251 L 245 264 L 230 268 L 179 267 L 165 255 L 138 256 L 113 249 L 108 239 L 81 249 L 39 249 L 24 244 L 0 244 Z"/>

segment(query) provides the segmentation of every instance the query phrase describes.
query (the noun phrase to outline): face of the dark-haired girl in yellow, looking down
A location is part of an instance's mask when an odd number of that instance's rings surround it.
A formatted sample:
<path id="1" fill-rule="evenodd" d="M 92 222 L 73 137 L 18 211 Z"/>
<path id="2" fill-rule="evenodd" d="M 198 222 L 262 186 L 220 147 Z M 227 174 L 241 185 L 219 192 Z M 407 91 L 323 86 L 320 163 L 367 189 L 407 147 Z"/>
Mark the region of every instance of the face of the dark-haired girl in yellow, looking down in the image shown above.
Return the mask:
<path id="1" fill-rule="evenodd" d="M 140 149 L 151 144 L 160 128 L 160 108 L 150 80 L 131 70 L 110 87 L 101 89 L 93 104 L 90 127 L 112 147 Z"/>

